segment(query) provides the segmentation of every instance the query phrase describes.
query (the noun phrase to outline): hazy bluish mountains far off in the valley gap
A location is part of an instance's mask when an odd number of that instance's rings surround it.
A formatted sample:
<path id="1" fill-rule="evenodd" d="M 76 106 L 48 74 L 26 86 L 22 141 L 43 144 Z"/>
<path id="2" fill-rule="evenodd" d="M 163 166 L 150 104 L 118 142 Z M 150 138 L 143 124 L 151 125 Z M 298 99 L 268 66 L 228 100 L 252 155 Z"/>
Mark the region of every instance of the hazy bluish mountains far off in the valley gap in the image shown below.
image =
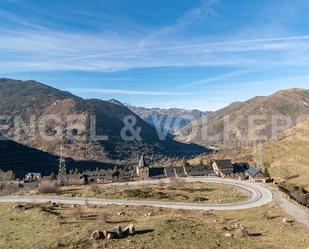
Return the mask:
<path id="1" fill-rule="evenodd" d="M 162 131 L 167 131 L 171 136 L 177 135 L 179 130 L 193 120 L 208 114 L 208 112 L 199 110 L 178 108 L 161 109 L 137 106 L 128 106 L 128 108 L 151 126 L 157 127 Z"/>

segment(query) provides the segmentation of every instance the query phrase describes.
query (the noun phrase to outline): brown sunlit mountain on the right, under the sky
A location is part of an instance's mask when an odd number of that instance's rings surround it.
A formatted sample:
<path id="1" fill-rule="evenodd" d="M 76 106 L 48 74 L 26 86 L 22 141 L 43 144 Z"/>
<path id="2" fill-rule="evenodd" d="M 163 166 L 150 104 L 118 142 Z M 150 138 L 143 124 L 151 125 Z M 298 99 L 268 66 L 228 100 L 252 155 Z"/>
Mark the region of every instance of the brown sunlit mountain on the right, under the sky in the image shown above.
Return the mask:
<path id="1" fill-rule="evenodd" d="M 309 114 L 309 90 L 289 89 L 279 91 L 267 97 L 255 97 L 246 102 L 235 102 L 219 111 L 207 115 L 206 119 L 191 122 L 181 130 L 179 141 L 212 144 L 225 148 L 247 145 L 249 138 L 249 117 L 264 115 L 259 125 L 265 127 L 259 132 L 267 138 L 271 135 L 272 115 L 288 115 L 295 123 L 297 118 Z M 229 136 L 224 136 L 225 118 L 235 123 Z M 190 136 L 192 130 L 195 136 Z M 211 135 L 212 137 L 210 137 Z M 216 136 L 215 136 L 216 135 Z M 250 139 L 252 142 L 252 138 Z"/>

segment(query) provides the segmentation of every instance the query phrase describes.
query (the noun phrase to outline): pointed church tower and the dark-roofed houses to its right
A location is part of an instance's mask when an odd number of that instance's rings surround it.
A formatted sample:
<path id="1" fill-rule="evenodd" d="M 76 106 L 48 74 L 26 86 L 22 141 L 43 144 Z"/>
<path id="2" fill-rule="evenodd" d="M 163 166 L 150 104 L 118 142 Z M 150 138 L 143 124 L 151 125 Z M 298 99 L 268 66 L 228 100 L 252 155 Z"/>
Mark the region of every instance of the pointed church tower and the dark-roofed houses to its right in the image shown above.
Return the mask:
<path id="1" fill-rule="evenodd" d="M 183 166 L 169 167 L 150 167 L 142 155 L 136 174 L 140 179 L 149 178 L 165 178 L 165 177 L 202 177 L 202 176 L 218 176 L 229 177 L 238 180 L 250 180 L 254 182 L 266 182 L 264 174 L 256 167 L 249 166 L 246 163 L 232 164 L 231 160 L 214 160 L 209 165 L 200 164 L 191 166 L 185 164 Z"/>

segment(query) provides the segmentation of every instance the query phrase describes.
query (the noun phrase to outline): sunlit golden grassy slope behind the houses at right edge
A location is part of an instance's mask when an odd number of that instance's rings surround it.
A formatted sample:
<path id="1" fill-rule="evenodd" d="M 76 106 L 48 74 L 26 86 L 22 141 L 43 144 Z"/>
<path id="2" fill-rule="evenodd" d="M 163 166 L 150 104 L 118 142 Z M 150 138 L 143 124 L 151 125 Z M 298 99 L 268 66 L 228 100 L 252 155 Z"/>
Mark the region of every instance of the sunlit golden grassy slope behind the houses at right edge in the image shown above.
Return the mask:
<path id="1" fill-rule="evenodd" d="M 233 163 L 246 162 L 269 168 L 269 173 L 276 182 L 305 187 L 309 191 L 309 117 L 295 127 L 282 132 L 277 140 L 261 144 L 261 156 L 253 148 L 235 148 L 216 153 L 200 155 L 190 163 L 197 164 L 215 159 L 232 159 Z"/>

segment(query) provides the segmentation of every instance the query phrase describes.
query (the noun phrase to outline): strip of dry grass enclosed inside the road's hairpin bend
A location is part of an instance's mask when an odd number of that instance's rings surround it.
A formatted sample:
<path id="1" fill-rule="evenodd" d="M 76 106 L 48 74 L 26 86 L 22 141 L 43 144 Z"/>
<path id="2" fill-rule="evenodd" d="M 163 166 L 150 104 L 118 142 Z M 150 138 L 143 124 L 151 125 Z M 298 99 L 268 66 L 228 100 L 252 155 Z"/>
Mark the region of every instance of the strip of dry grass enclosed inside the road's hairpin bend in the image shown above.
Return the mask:
<path id="1" fill-rule="evenodd" d="M 100 197 L 109 199 L 144 199 L 176 202 L 232 203 L 247 200 L 249 193 L 235 186 L 172 180 L 171 183 L 132 186 L 86 185 L 62 188 L 66 196 Z"/>

